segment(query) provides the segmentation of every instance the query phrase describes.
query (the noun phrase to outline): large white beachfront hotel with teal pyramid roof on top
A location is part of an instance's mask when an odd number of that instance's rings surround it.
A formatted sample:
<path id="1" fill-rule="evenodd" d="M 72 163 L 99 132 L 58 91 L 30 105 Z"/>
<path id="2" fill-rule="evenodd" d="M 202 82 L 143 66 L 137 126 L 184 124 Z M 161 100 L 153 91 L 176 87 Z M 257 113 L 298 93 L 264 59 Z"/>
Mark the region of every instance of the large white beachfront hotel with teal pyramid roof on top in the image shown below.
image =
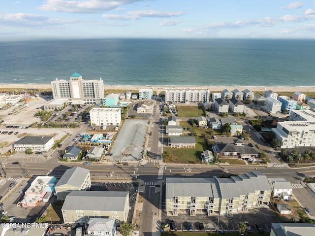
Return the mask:
<path id="1" fill-rule="evenodd" d="M 98 80 L 86 80 L 74 73 L 69 80 L 58 79 L 51 82 L 54 99 L 69 99 L 70 102 L 88 104 L 99 103 L 104 96 L 104 83 Z"/>

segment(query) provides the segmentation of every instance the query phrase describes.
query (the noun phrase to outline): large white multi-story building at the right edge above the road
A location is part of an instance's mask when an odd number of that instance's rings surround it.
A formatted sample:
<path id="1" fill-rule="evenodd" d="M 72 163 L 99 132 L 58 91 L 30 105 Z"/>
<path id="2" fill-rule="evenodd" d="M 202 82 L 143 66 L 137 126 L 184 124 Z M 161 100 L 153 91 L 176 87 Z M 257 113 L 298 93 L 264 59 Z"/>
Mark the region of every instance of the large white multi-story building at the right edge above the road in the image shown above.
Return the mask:
<path id="1" fill-rule="evenodd" d="M 298 146 L 315 146 L 315 122 L 284 121 L 278 122 L 277 128 L 272 129 L 280 140 L 281 148 Z"/>

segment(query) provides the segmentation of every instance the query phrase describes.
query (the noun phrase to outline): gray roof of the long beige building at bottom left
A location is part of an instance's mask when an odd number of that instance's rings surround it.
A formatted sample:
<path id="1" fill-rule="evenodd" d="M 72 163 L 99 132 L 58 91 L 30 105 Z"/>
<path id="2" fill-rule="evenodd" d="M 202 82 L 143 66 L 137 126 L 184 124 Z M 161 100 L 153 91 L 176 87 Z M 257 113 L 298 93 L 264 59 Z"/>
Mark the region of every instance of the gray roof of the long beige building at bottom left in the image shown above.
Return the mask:
<path id="1" fill-rule="evenodd" d="M 128 192 L 71 191 L 63 210 L 124 211 Z"/>

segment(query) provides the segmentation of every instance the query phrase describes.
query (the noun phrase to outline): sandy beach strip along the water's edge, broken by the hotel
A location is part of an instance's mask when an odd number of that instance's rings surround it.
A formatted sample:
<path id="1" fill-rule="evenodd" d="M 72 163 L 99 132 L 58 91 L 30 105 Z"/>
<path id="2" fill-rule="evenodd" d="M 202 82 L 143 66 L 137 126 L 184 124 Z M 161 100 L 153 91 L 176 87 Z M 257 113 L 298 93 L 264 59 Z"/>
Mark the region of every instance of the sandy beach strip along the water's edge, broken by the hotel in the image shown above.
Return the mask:
<path id="1" fill-rule="evenodd" d="M 51 84 L 0 84 L 0 90 L 3 89 L 51 89 Z M 260 92 L 260 91 L 266 91 L 266 90 L 272 90 L 274 92 L 313 92 L 315 91 L 315 86 L 246 86 L 246 85 L 235 85 L 235 86 L 174 86 L 174 85 L 104 85 L 104 90 L 139 90 L 139 89 L 145 89 L 145 88 L 153 88 L 153 91 L 158 91 L 158 93 L 165 91 L 165 89 L 195 89 L 195 88 L 208 88 L 210 92 L 221 92 L 224 89 L 228 89 L 230 91 L 240 88 L 240 90 L 244 90 L 246 88 L 249 88 L 253 92 Z"/>

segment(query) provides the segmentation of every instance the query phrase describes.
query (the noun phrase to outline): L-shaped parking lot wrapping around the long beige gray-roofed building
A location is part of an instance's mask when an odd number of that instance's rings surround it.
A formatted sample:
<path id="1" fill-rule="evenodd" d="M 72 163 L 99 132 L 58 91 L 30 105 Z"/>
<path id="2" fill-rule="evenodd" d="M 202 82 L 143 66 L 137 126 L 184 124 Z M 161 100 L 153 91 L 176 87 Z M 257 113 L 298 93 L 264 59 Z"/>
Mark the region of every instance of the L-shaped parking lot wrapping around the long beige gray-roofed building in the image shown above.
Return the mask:
<path id="1" fill-rule="evenodd" d="M 126 191 L 129 192 L 129 213 L 128 222 L 132 222 L 134 206 L 138 191 L 138 184 L 133 182 L 92 182 L 91 191 Z"/>

